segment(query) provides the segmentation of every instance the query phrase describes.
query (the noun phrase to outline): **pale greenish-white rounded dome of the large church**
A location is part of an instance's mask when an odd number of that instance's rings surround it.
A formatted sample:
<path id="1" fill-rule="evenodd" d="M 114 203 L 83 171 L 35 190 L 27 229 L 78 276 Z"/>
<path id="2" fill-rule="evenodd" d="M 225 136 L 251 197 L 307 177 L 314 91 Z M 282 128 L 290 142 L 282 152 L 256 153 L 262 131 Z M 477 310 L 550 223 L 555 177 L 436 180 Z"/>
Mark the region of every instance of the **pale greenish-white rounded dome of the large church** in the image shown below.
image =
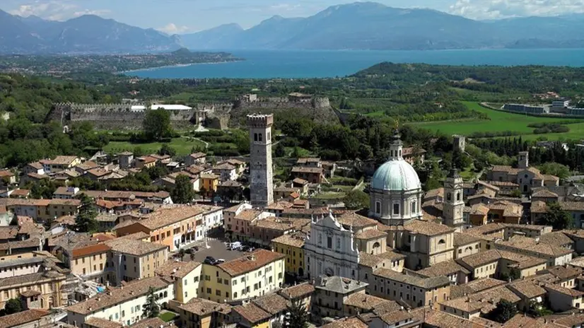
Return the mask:
<path id="1" fill-rule="evenodd" d="M 421 188 L 416 170 L 405 160 L 389 160 L 375 171 L 371 188 L 383 191 L 409 191 Z"/>

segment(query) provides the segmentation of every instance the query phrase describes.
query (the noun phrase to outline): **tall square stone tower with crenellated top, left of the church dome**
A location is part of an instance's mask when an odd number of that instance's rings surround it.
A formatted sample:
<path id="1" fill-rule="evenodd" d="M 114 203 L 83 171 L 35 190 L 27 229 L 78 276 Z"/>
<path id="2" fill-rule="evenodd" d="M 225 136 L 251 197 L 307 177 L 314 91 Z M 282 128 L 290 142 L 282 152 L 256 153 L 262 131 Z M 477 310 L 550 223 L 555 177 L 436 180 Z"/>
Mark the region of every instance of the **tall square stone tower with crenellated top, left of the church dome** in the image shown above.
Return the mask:
<path id="1" fill-rule="evenodd" d="M 250 191 L 253 206 L 274 202 L 271 164 L 271 126 L 274 115 L 247 115 L 250 128 Z"/>

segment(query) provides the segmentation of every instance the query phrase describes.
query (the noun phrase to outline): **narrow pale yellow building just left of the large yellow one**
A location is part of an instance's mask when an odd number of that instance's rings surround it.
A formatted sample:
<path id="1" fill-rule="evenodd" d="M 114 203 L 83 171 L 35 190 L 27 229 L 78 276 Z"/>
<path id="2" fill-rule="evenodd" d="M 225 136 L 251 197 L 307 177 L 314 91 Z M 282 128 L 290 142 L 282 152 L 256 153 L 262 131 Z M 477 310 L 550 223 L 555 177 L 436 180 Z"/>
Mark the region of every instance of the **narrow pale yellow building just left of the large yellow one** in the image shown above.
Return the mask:
<path id="1" fill-rule="evenodd" d="M 189 303 L 190 300 L 199 297 L 199 280 L 202 271 L 199 262 L 167 262 L 156 269 L 158 276 L 170 278 L 175 282 L 175 300 L 180 303 Z"/>

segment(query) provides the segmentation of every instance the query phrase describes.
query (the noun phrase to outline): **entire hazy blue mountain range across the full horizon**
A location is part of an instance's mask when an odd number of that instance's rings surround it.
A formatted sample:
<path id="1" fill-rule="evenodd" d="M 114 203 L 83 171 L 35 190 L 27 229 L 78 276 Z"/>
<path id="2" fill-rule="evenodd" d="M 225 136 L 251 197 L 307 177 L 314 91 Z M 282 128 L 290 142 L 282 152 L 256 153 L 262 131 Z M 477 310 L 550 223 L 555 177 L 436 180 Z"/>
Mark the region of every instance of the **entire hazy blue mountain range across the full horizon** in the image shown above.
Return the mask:
<path id="1" fill-rule="evenodd" d="M 584 47 L 584 15 L 475 21 L 373 2 L 331 6 L 307 18 L 274 16 L 247 30 L 221 25 L 166 35 L 98 16 L 69 21 L 0 11 L 0 52 L 112 53 L 189 49 L 469 49 Z"/>

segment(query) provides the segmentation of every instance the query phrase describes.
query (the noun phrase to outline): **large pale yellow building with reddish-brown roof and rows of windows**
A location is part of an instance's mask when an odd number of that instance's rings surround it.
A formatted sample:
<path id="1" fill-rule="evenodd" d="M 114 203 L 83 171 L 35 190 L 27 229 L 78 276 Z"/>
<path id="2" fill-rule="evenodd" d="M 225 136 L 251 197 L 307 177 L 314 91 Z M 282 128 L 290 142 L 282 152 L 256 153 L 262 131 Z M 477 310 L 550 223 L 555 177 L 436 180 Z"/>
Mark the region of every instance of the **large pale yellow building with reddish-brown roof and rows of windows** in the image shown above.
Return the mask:
<path id="1" fill-rule="evenodd" d="M 275 291 L 284 283 L 284 257 L 257 250 L 221 264 L 203 264 L 203 289 L 199 288 L 199 297 L 225 303 Z"/>

